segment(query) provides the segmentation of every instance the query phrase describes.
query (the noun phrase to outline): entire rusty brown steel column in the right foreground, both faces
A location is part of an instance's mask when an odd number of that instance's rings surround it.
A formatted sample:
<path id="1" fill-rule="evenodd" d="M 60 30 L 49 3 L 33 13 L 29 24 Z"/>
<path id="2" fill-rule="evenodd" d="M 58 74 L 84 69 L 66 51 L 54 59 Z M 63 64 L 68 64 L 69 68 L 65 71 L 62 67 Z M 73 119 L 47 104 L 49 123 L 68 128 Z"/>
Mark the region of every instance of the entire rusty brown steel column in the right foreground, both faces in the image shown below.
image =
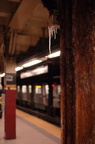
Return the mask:
<path id="1" fill-rule="evenodd" d="M 95 0 L 59 2 L 61 144 L 95 144 Z"/>

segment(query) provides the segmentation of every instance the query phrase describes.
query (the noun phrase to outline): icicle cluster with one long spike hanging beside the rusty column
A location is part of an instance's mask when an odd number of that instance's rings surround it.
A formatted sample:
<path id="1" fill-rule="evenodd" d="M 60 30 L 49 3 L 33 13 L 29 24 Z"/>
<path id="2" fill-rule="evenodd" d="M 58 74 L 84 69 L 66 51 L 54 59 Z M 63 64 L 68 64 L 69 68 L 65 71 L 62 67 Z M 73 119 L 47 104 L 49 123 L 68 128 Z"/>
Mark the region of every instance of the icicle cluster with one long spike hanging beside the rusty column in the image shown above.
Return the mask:
<path id="1" fill-rule="evenodd" d="M 54 39 L 56 39 L 57 28 L 54 25 L 49 26 L 48 31 L 49 31 L 49 53 L 51 54 L 51 38 L 54 36 Z"/>

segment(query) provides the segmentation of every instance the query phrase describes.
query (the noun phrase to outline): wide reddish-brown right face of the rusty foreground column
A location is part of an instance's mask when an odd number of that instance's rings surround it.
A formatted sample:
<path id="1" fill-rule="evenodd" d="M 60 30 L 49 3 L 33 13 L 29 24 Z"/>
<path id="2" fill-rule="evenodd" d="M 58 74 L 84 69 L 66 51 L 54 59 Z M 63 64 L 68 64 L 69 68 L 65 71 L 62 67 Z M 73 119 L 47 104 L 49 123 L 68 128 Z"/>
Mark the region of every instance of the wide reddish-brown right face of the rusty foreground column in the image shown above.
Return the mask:
<path id="1" fill-rule="evenodd" d="M 75 0 L 76 144 L 95 144 L 95 1 Z"/>

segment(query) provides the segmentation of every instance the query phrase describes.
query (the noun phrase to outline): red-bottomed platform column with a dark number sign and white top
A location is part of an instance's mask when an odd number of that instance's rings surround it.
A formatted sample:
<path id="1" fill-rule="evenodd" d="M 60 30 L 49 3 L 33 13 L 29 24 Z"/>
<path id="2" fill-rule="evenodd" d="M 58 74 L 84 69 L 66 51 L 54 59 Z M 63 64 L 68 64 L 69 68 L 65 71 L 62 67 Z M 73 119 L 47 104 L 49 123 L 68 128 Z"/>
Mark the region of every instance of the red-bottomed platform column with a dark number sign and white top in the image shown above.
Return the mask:
<path id="1" fill-rule="evenodd" d="M 6 62 L 5 74 L 5 139 L 16 138 L 16 74 L 15 62 Z"/>

